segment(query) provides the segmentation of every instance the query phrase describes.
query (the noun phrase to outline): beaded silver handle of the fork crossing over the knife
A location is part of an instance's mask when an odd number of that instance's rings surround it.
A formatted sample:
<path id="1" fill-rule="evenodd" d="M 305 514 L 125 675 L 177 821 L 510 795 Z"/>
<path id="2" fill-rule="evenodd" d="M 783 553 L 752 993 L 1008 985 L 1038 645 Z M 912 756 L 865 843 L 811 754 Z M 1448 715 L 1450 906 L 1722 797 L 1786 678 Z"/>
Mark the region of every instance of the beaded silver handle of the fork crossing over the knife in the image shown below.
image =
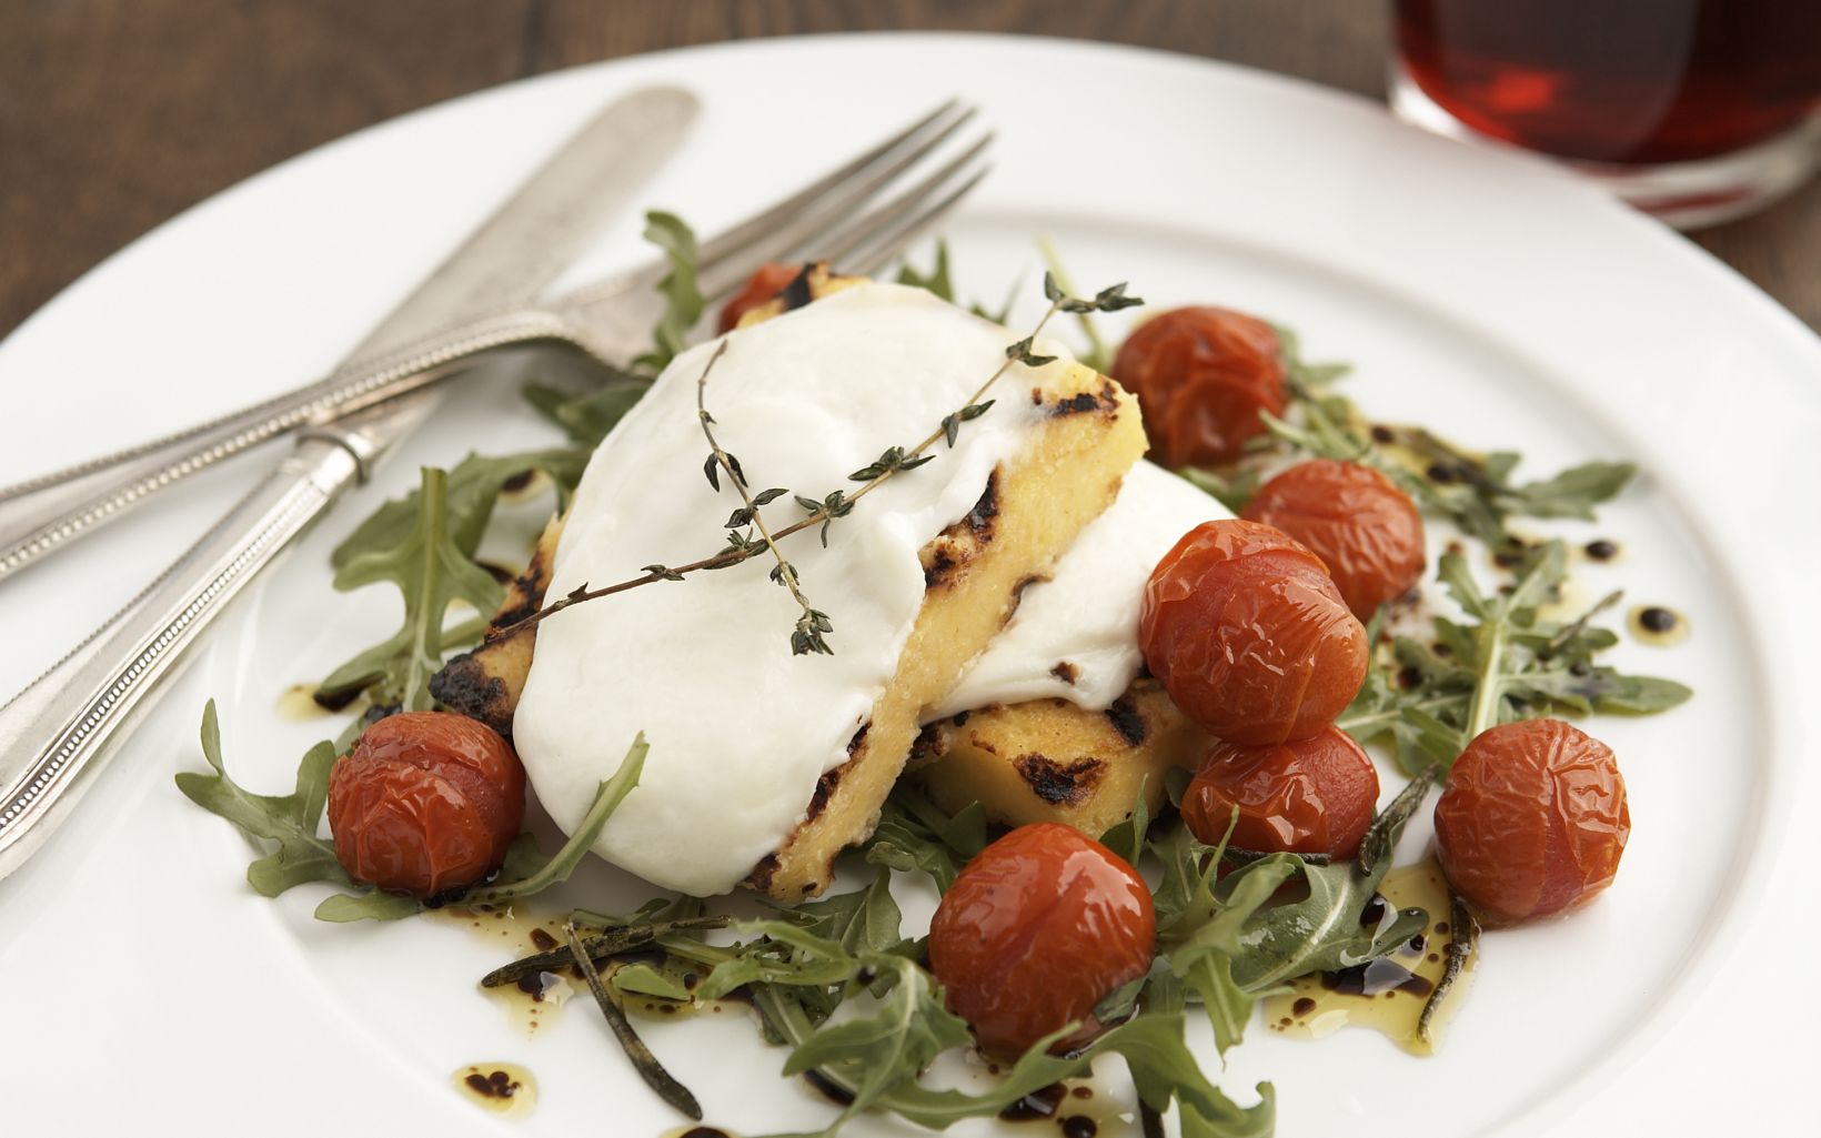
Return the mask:
<path id="1" fill-rule="evenodd" d="M 0 579 L 124 517 L 155 492 L 304 424 L 326 422 L 466 370 L 490 348 L 574 339 L 552 313 L 521 311 L 470 320 L 277 399 L 0 488 Z"/>

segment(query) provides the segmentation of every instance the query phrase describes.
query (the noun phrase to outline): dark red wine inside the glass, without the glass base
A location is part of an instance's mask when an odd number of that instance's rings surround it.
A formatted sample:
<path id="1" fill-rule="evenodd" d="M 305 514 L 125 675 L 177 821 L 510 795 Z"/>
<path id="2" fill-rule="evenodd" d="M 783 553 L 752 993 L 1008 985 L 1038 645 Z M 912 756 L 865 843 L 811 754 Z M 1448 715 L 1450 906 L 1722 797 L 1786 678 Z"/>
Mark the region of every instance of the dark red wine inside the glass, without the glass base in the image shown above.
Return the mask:
<path id="1" fill-rule="evenodd" d="M 1562 158 L 1712 158 L 1821 106 L 1821 0 L 1399 0 L 1397 44 L 1457 120 Z"/>

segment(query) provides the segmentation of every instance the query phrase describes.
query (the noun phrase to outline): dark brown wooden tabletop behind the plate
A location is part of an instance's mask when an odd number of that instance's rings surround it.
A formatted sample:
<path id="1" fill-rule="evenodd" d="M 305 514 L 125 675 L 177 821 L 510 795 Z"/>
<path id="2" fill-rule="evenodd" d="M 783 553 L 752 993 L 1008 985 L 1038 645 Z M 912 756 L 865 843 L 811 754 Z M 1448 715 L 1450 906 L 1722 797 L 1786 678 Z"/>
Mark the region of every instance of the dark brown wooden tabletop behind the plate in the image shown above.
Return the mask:
<path id="1" fill-rule="evenodd" d="M 1380 97 L 1373 0 L 0 0 L 0 335 L 120 246 L 362 126 L 539 71 L 727 38 L 1014 31 Z M 1821 182 L 1697 233 L 1821 328 Z"/>

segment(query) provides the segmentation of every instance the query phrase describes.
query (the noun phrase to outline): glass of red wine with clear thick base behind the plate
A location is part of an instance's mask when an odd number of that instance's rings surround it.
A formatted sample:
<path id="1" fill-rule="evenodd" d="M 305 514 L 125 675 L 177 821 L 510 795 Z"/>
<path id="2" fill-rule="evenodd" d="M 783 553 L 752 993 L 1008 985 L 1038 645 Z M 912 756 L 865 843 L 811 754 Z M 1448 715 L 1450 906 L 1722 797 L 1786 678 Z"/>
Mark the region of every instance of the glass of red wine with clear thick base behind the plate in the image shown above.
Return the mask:
<path id="1" fill-rule="evenodd" d="M 1395 0 L 1391 109 L 1561 158 L 1677 228 L 1821 162 L 1821 0 Z"/>

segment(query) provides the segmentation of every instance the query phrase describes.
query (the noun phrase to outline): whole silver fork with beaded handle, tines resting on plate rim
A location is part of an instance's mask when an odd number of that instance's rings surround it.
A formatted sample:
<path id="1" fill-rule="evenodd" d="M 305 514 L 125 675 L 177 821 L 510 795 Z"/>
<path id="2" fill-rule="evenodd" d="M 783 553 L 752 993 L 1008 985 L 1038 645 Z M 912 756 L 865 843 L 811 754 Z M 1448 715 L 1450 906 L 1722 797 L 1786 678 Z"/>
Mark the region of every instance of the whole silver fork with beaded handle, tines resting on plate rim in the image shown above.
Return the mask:
<path id="1" fill-rule="evenodd" d="M 949 100 L 803 189 L 703 240 L 697 288 L 708 311 L 768 260 L 818 259 L 858 275 L 881 269 L 991 169 L 985 162 L 991 131 L 929 169 L 974 115 L 974 107 Z M 916 180 L 903 186 L 912 177 Z M 898 193 L 885 198 L 892 189 Z M 668 262 L 659 259 L 548 302 L 468 319 L 393 351 L 351 361 L 286 395 L 0 488 L 0 579 L 124 517 L 191 473 L 286 432 L 326 428 L 341 415 L 437 384 L 493 348 L 559 340 L 603 364 L 623 366 L 650 340 L 665 304 L 657 284 L 668 271 Z"/>

